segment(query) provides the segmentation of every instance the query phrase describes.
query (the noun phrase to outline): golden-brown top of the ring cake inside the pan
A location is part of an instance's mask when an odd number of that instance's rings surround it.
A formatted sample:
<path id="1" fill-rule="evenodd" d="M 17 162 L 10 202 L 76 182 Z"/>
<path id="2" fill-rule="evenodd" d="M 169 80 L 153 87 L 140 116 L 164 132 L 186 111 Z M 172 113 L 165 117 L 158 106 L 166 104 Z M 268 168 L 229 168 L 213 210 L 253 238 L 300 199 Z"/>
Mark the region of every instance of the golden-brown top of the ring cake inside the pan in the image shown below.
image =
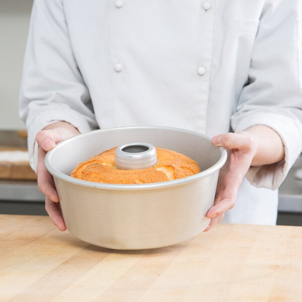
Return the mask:
<path id="1" fill-rule="evenodd" d="M 115 168 L 115 149 L 106 150 L 74 168 L 74 178 L 110 184 L 144 184 L 187 177 L 200 172 L 196 162 L 187 156 L 156 147 L 158 162 L 142 170 Z"/>

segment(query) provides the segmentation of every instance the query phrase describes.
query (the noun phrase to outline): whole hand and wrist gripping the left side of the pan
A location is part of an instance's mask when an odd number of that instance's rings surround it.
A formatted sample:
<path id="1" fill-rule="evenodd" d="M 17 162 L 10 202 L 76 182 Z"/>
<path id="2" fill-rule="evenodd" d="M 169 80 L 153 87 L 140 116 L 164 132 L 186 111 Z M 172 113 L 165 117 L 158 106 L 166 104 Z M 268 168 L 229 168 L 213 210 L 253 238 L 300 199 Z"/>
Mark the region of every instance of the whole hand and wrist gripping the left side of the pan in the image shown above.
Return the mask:
<path id="1" fill-rule="evenodd" d="M 45 168 L 44 158 L 46 153 L 54 146 L 69 137 L 80 134 L 77 128 L 66 122 L 55 122 L 36 135 L 38 143 L 37 181 L 39 190 L 45 195 L 45 209 L 51 221 L 60 231 L 65 231 L 66 226 L 60 210 L 59 197 L 55 189 L 52 176 Z"/>

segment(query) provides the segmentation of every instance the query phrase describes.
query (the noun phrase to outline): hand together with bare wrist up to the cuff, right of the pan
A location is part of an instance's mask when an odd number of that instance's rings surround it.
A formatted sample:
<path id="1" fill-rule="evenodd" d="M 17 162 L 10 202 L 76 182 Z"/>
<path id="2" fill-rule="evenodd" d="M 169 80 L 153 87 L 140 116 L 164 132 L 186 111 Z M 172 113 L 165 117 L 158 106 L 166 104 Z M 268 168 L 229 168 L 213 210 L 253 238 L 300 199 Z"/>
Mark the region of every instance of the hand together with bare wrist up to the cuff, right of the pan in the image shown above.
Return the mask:
<path id="1" fill-rule="evenodd" d="M 284 145 L 271 128 L 256 125 L 238 133 L 225 133 L 212 138 L 212 144 L 228 150 L 228 159 L 220 169 L 214 206 L 206 216 L 211 218 L 205 231 L 212 228 L 235 205 L 239 187 L 251 166 L 277 163 L 284 159 Z"/>

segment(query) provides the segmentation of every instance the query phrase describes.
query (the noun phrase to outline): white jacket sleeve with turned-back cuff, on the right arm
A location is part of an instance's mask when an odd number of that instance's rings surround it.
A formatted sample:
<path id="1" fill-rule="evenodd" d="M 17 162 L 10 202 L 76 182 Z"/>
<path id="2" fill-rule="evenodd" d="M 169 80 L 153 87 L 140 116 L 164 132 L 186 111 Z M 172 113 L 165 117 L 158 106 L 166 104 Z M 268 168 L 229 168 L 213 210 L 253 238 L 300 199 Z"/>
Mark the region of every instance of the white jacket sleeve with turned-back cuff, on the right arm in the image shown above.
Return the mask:
<path id="1" fill-rule="evenodd" d="M 302 53 L 300 0 L 267 0 L 253 50 L 248 84 L 231 123 L 235 132 L 266 125 L 281 137 L 282 162 L 251 167 L 254 186 L 277 189 L 302 152 Z"/>

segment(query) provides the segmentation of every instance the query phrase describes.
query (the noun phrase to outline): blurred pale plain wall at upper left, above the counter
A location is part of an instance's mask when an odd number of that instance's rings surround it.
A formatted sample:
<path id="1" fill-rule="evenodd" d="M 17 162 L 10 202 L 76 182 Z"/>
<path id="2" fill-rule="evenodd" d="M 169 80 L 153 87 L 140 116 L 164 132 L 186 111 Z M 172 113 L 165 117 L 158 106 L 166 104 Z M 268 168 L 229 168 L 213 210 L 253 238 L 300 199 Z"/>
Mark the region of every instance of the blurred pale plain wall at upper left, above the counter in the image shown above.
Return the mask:
<path id="1" fill-rule="evenodd" d="M 0 0 L 0 130 L 25 128 L 18 96 L 32 3 Z"/>

